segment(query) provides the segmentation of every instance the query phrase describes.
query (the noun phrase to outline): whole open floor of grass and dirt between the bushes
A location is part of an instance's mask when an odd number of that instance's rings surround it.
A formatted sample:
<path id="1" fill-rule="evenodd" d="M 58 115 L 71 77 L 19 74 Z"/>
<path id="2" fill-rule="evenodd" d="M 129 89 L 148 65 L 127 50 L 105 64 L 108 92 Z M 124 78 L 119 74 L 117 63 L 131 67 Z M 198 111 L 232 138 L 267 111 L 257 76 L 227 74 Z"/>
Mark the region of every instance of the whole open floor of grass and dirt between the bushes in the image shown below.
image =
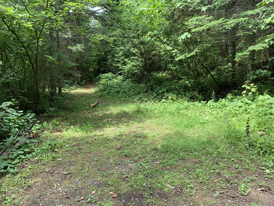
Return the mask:
<path id="1" fill-rule="evenodd" d="M 260 160 L 228 144 L 209 111 L 177 116 L 172 103 L 121 102 L 93 86 L 71 91 L 65 107 L 40 117 L 40 146 L 58 151 L 2 177 L 5 204 L 274 205 Z"/>

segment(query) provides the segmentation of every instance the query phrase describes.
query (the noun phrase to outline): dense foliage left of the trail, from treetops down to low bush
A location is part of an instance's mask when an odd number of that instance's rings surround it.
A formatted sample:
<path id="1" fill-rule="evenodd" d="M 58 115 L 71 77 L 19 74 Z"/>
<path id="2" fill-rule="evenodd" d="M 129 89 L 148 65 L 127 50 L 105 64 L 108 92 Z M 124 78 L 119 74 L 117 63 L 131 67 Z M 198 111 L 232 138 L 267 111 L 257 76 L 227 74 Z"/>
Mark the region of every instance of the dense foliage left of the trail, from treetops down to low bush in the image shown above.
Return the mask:
<path id="1" fill-rule="evenodd" d="M 16 172 L 18 162 L 32 157 L 29 143 L 37 140 L 30 129 L 40 127 L 34 115 L 60 107 L 62 89 L 83 83 L 83 69 L 92 65 L 87 51 L 106 39 L 92 22 L 95 3 L 0 2 L 0 150 L 8 151 L 0 172 Z M 21 146 L 10 148 L 12 142 Z"/>

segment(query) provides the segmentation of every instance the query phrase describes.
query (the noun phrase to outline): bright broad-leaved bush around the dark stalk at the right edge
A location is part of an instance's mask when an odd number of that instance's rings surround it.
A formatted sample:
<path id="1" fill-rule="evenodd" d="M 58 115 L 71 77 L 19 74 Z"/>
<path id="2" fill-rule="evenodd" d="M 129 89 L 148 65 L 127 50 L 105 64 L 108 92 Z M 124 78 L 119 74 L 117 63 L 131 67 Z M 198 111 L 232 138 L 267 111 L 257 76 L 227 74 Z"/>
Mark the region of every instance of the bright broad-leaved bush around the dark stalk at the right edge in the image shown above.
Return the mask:
<path id="1" fill-rule="evenodd" d="M 195 103 L 191 104 L 195 105 Z M 250 140 L 248 140 L 244 128 L 242 131 L 237 128 L 236 121 L 232 124 L 228 122 L 224 126 L 226 138 L 234 143 L 243 140 L 246 147 L 251 148 L 258 154 L 272 154 L 274 152 L 274 132 L 272 131 L 274 126 L 273 97 L 267 94 L 259 95 L 258 93 L 238 97 L 228 95 L 227 98 L 220 99 L 218 102 L 210 100 L 208 103 L 202 102 L 199 105 L 204 105 L 203 107 L 205 108 L 212 108 L 215 112 L 225 113 L 227 119 L 231 120 L 245 118 L 247 121 L 250 117 Z M 263 134 L 258 132 L 263 132 Z"/>

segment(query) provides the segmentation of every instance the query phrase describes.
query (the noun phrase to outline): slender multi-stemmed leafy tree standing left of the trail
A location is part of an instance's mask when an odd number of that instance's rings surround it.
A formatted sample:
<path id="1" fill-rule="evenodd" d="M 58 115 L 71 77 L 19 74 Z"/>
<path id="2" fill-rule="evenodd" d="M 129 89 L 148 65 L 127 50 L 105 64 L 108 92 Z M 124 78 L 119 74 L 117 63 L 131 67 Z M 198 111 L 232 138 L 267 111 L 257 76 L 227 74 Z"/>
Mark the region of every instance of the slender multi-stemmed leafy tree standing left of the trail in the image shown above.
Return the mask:
<path id="1" fill-rule="evenodd" d="M 21 100 L 21 107 L 24 110 L 37 109 L 40 92 L 45 90 L 44 86 L 42 90 L 40 89 L 42 79 L 39 79 L 39 75 L 41 76 L 41 71 L 45 71 L 46 65 L 49 65 L 50 68 L 47 75 L 50 77 L 48 91 L 51 91 L 50 101 L 52 102 L 54 93 L 56 93 L 56 76 L 58 76 L 56 73 L 60 73 L 60 70 L 56 70 L 56 66 L 54 66 L 58 64 L 54 56 L 58 56 L 57 51 L 60 52 L 58 50 L 60 49 L 59 34 L 68 36 L 73 31 L 72 36 L 86 36 L 84 27 L 80 28 L 79 24 L 75 23 L 77 22 L 75 19 L 88 16 L 88 5 L 94 3 L 89 0 L 84 2 L 5 0 L 0 3 L 0 28 L 1 33 L 4 34 L 1 38 L 2 62 L 9 62 L 9 69 L 2 69 L 2 72 L 19 75 L 23 69 L 24 82 L 31 82 L 25 91 L 20 89 L 19 96 L 23 95 L 26 99 L 16 97 Z M 73 20 L 75 21 L 73 22 Z M 79 21 L 79 23 L 82 22 Z M 54 33 L 58 34 L 58 41 L 55 41 Z M 12 43 L 7 45 L 6 42 Z M 16 45 L 16 50 L 12 50 L 11 44 Z M 59 48 L 55 49 L 56 47 Z M 7 49 L 9 51 L 5 52 Z M 21 64 L 15 68 L 12 64 L 16 62 L 18 51 L 23 51 L 25 55 L 20 53 Z M 26 76 L 28 76 L 27 80 Z M 44 80 L 46 79 L 44 78 Z"/>

